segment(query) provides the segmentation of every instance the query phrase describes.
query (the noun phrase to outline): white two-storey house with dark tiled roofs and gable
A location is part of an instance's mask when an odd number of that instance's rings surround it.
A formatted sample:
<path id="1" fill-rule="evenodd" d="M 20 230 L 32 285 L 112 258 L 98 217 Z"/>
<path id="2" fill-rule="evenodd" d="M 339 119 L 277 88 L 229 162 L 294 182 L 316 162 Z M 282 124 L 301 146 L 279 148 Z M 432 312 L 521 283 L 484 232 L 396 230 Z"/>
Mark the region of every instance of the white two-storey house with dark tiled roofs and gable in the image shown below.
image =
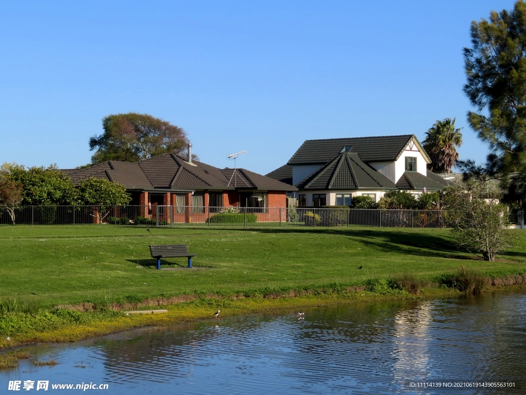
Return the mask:
<path id="1" fill-rule="evenodd" d="M 359 195 L 378 202 L 392 190 L 441 190 L 449 183 L 429 172 L 428 163 L 414 134 L 306 140 L 267 176 L 297 186 L 300 206 L 350 205 Z"/>

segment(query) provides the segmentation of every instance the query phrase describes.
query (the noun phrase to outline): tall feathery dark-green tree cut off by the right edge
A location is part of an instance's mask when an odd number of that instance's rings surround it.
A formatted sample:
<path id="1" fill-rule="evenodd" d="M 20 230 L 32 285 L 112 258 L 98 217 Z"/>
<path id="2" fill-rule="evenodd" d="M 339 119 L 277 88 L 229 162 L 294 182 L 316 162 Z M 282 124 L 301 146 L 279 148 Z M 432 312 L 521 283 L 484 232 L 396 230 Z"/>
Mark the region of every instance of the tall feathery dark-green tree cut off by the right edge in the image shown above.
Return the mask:
<path id="1" fill-rule="evenodd" d="M 490 154 L 478 172 L 502 176 L 503 186 L 523 184 L 526 174 L 526 4 L 492 11 L 489 20 L 471 23 L 471 48 L 464 48 L 464 92 L 478 112 L 468 121 Z M 473 162 L 464 162 L 474 169 Z M 477 170 L 477 169 L 475 169 Z M 513 185 L 511 185 L 513 187 Z"/>

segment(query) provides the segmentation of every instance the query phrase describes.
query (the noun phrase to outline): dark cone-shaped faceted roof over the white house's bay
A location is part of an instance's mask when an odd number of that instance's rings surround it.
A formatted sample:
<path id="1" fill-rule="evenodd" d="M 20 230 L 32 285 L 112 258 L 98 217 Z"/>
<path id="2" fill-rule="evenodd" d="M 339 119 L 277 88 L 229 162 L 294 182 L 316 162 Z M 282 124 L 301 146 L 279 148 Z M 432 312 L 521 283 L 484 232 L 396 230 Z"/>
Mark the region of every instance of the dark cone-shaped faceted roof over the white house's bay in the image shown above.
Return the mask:
<path id="1" fill-rule="evenodd" d="M 340 153 L 297 186 L 305 190 L 396 189 L 393 182 L 363 163 L 354 152 Z"/>

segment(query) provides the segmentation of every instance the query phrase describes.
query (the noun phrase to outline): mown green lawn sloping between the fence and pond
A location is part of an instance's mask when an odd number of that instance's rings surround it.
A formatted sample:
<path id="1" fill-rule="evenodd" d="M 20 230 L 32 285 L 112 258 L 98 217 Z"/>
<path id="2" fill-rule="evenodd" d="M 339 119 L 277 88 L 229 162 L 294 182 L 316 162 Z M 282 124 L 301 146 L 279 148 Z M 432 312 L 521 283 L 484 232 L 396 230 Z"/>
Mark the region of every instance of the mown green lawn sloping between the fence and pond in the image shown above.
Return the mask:
<path id="1" fill-rule="evenodd" d="M 113 225 L 0 226 L 0 298 L 43 306 L 179 294 L 231 294 L 355 283 L 411 272 L 432 279 L 461 264 L 526 273 L 526 232 L 497 262 L 470 259 L 443 229 L 184 229 Z M 202 270 L 155 270 L 150 244 L 188 244 Z M 186 266 L 186 258 L 163 265 Z M 358 266 L 363 265 L 362 270 Z"/>

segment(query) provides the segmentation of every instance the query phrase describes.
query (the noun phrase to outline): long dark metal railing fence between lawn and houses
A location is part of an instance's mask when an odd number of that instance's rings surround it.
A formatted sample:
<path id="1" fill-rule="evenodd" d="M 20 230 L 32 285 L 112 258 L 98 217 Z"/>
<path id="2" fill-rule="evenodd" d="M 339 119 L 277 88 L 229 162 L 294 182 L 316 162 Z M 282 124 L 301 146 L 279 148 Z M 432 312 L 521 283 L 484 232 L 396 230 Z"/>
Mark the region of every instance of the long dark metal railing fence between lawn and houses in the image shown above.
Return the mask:
<path id="1" fill-rule="evenodd" d="M 15 209 L 15 223 L 113 224 L 149 226 L 375 226 L 448 228 L 450 212 L 340 208 L 231 208 L 205 206 L 25 206 Z M 517 215 L 510 220 L 517 221 Z M 0 210 L 0 224 L 11 224 Z M 516 222 L 515 222 L 516 223 Z"/>

